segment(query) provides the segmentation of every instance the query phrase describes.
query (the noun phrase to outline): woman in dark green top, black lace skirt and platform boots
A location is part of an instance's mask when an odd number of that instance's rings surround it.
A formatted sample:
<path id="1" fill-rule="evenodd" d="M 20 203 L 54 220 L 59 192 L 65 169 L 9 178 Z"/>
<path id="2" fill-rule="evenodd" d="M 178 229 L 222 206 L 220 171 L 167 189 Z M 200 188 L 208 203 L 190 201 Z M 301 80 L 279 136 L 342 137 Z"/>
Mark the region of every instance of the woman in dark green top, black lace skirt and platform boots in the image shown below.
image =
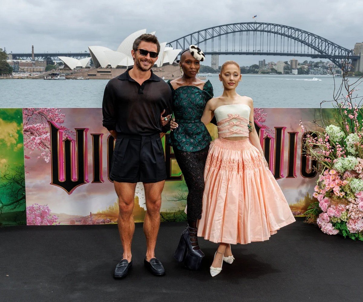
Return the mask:
<path id="1" fill-rule="evenodd" d="M 175 116 L 175 121 L 171 122 L 172 132 L 168 144 L 173 147 L 176 161 L 188 187 L 188 226 L 181 233 L 174 257 L 180 262 L 184 261 L 184 265 L 189 269 L 198 269 L 204 257 L 197 241 L 197 220 L 201 218 L 203 173 L 212 138 L 200 119 L 205 104 L 213 98 L 211 82 L 203 82 L 196 77 L 199 63 L 204 57 L 198 47 L 191 45 L 180 55 L 179 66 L 183 69 L 183 75 L 168 81 L 172 90 Z"/>

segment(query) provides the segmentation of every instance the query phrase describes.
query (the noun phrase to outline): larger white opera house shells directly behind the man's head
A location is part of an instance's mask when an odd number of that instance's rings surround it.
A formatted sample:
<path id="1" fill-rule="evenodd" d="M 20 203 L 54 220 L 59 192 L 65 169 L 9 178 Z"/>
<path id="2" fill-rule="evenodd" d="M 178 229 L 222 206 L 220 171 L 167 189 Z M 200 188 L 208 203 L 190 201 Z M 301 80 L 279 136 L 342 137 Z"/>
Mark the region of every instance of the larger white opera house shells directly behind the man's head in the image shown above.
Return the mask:
<path id="1" fill-rule="evenodd" d="M 131 56 L 132 44 L 137 37 L 145 33 L 146 29 L 142 29 L 130 34 L 130 36 L 121 42 L 116 51 L 103 46 L 89 46 L 88 49 L 94 66 L 116 68 L 134 65 L 134 59 Z M 151 34 L 155 34 L 155 32 L 152 32 Z M 172 64 L 180 53 L 180 49 L 166 47 L 166 44 L 167 42 L 160 43 L 159 57 L 155 62 L 157 67 L 162 67 L 165 64 Z"/>

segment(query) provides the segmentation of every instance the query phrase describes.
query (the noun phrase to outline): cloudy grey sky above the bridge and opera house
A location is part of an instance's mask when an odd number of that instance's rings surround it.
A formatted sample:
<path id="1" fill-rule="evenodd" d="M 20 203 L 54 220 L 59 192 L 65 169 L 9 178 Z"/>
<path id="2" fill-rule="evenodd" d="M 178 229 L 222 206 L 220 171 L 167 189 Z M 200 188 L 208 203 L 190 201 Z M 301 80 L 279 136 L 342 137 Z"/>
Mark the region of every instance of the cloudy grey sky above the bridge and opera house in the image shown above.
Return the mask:
<path id="1" fill-rule="evenodd" d="M 303 29 L 348 49 L 363 41 L 362 0 L 1 0 L 0 48 L 19 53 L 34 45 L 35 52 L 83 52 L 101 45 L 116 50 L 139 29 L 172 41 L 212 26 L 249 22 L 254 15 L 257 21 Z M 230 58 L 242 65 L 260 59 L 225 57 Z"/>

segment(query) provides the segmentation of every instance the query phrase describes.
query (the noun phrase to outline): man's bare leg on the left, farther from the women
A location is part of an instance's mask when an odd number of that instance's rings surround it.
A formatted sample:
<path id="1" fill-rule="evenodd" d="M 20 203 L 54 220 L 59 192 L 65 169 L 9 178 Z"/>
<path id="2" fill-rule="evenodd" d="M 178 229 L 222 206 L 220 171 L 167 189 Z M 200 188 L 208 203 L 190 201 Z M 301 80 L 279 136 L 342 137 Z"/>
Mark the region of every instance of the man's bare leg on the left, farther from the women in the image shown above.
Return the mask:
<path id="1" fill-rule="evenodd" d="M 135 231 L 134 210 L 135 203 L 135 187 L 136 183 L 114 182 L 116 194 L 118 196 L 118 232 L 120 234 L 123 258 L 131 261 L 131 241 Z"/>

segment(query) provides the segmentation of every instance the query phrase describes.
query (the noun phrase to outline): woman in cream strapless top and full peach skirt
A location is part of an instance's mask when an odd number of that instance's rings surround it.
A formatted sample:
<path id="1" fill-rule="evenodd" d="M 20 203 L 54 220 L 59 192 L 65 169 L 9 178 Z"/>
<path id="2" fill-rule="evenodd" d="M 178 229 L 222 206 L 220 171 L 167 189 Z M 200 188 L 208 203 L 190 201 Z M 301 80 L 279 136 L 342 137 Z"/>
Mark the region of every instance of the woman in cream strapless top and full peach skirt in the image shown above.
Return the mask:
<path id="1" fill-rule="evenodd" d="M 209 100 L 201 120 L 217 119 L 218 138 L 209 148 L 204 170 L 203 212 L 198 236 L 219 243 L 212 277 L 223 261 L 232 264 L 231 244 L 264 241 L 295 221 L 265 160 L 253 127 L 253 101 L 236 93 L 240 66 L 227 61 L 219 78 L 223 94 Z"/>

